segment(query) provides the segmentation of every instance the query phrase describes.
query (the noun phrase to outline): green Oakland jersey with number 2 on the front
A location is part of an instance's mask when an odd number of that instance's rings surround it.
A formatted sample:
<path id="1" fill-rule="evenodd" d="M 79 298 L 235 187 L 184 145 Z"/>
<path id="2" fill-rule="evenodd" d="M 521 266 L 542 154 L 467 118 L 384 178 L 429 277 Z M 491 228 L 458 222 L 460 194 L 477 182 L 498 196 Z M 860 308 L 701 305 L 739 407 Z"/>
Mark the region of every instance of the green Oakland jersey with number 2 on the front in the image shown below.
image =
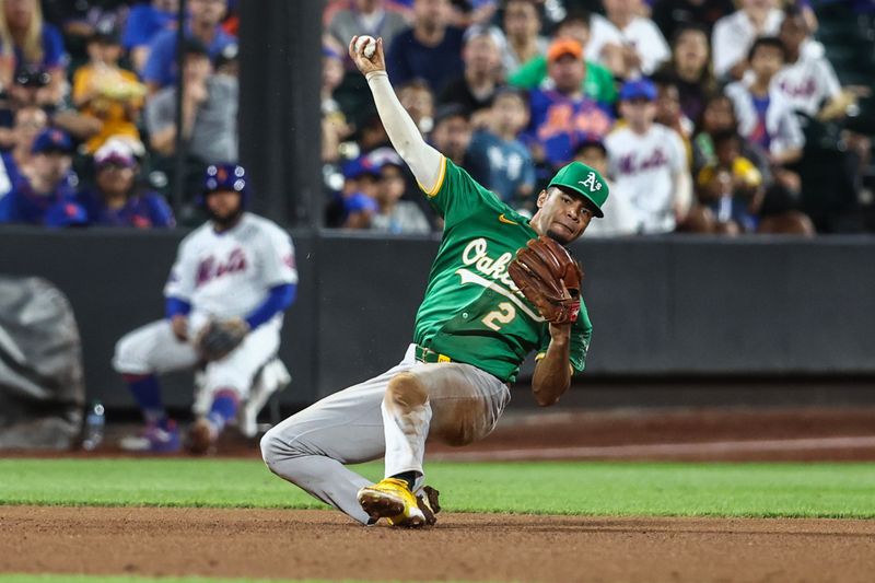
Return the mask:
<path id="1" fill-rule="evenodd" d="M 417 313 L 415 341 L 453 361 L 513 381 L 526 354 L 550 343 L 548 324 L 516 289 L 508 265 L 537 233 L 528 220 L 445 158 L 430 202 L 444 236 Z M 592 336 L 581 302 L 572 325 L 571 365 L 582 371 Z"/>

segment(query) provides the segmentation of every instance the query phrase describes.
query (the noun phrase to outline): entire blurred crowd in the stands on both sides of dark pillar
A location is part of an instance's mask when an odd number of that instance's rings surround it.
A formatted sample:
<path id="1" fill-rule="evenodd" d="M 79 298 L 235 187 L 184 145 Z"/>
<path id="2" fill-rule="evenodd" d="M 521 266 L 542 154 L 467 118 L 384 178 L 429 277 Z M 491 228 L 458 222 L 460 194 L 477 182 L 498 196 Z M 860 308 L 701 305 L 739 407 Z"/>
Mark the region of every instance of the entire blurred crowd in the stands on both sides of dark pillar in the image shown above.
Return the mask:
<path id="1" fill-rule="evenodd" d="M 0 223 L 186 222 L 177 143 L 189 194 L 237 160 L 236 2 L 188 0 L 178 71 L 178 0 L 0 0 Z M 328 226 L 441 229 L 347 55 L 370 34 L 428 140 L 521 212 L 580 160 L 611 186 L 591 235 L 875 231 L 875 2 L 328 0 L 323 24 Z"/>

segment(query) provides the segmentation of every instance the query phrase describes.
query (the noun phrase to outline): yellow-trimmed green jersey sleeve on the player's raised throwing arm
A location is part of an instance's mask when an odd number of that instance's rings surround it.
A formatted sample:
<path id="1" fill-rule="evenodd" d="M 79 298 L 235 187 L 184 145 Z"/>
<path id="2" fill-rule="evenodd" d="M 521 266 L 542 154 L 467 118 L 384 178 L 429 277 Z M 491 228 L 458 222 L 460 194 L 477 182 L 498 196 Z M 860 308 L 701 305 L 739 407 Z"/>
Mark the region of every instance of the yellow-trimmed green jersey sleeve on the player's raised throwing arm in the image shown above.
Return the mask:
<path id="1" fill-rule="evenodd" d="M 422 185 L 419 185 L 422 188 Z M 446 226 L 463 221 L 486 205 L 499 205 L 489 190 L 480 186 L 464 168 L 456 166 L 446 156 L 441 160 L 441 174 L 431 190 L 422 191 L 429 202 L 443 217 Z"/>

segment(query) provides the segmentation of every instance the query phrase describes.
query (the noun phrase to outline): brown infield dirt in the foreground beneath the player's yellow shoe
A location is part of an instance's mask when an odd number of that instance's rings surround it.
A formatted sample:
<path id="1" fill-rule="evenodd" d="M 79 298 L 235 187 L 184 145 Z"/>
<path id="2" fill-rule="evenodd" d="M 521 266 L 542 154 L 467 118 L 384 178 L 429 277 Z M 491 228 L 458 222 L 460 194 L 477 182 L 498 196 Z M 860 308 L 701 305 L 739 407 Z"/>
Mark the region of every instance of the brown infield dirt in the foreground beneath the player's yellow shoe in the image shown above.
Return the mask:
<path id="1" fill-rule="evenodd" d="M 357 580 L 871 582 L 875 521 L 0 508 L 0 572 Z"/>

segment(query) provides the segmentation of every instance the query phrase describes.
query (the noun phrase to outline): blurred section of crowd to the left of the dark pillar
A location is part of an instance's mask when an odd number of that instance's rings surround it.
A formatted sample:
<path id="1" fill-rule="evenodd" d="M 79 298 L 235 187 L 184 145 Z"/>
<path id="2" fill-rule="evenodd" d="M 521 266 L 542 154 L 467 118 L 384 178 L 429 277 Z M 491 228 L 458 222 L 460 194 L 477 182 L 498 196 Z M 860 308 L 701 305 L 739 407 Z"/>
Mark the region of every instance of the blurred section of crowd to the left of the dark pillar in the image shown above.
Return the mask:
<path id="1" fill-rule="evenodd" d="M 0 0 L 0 223 L 173 226 L 177 133 L 186 184 L 236 161 L 235 2 L 187 8 L 178 71 L 178 0 Z"/>

